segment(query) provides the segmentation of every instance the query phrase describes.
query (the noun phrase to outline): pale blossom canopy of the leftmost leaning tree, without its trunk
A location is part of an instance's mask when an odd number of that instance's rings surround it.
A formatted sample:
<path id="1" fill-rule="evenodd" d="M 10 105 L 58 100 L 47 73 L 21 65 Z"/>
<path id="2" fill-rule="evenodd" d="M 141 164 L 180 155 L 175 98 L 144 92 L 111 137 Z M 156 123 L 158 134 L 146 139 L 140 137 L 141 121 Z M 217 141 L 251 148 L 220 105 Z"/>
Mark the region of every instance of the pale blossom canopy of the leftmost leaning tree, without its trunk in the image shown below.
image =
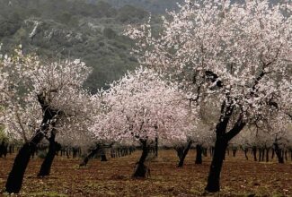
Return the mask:
<path id="1" fill-rule="evenodd" d="M 13 137 L 28 141 L 41 124 L 72 133 L 76 128 L 71 130 L 68 126 L 85 123 L 92 107 L 87 106 L 86 99 L 90 97 L 82 89 L 90 73 L 84 63 L 41 63 L 37 56 L 22 55 L 21 49 L 16 49 L 13 56 L 2 57 L 4 123 Z M 49 123 L 43 123 L 43 116 L 52 110 L 56 115 Z"/>

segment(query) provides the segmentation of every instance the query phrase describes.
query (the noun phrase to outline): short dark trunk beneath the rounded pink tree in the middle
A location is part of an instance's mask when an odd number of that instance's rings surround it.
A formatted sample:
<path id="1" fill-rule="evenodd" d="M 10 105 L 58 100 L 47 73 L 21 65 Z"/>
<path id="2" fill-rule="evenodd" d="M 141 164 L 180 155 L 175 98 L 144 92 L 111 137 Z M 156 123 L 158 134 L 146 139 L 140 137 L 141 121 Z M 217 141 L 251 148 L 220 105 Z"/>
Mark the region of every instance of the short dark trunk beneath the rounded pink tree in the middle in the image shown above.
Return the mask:
<path id="1" fill-rule="evenodd" d="M 146 174 L 149 173 L 148 167 L 145 166 L 145 161 L 148 156 L 148 147 L 147 147 L 147 141 L 146 140 L 140 140 L 142 144 L 142 155 L 139 161 L 136 164 L 136 170 L 133 174 L 134 178 L 145 178 Z"/>

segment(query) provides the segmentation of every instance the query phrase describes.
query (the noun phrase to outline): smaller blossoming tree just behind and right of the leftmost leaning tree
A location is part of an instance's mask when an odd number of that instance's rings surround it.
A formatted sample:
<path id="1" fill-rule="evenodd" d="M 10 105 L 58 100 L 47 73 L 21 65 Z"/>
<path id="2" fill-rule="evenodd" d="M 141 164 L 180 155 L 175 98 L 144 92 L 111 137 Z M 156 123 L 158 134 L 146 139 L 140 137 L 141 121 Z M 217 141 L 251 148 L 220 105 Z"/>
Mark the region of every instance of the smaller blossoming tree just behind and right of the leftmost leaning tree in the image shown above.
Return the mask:
<path id="1" fill-rule="evenodd" d="M 64 66 L 67 65 L 64 64 Z M 69 75 L 68 73 L 64 74 Z M 65 109 L 65 105 L 67 105 L 66 110 L 62 110 L 66 113 L 57 117 L 57 121 L 51 125 L 49 136 L 45 136 L 49 141 L 49 152 L 40 167 L 38 176 L 49 176 L 53 159 L 61 148 L 58 142 L 75 147 L 76 145 L 84 145 L 83 143 L 86 143 L 86 140 L 88 141 L 92 137 L 87 129 L 93 108 L 90 103 L 90 95 L 80 86 L 67 90 L 66 95 L 63 96 L 65 103 L 59 108 L 64 107 Z M 58 99 L 58 101 L 61 101 L 61 99 Z M 55 138 L 58 139 L 58 142 Z"/>

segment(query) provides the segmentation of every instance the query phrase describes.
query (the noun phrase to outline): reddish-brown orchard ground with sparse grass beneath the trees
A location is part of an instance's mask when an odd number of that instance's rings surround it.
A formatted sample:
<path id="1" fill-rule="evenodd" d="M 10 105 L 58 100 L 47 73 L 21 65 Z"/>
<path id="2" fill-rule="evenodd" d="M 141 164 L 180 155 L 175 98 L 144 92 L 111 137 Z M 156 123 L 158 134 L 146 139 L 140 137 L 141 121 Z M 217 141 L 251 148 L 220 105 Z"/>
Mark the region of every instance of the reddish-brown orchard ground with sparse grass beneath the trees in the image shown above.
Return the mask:
<path id="1" fill-rule="evenodd" d="M 226 157 L 221 192 L 205 193 L 210 158 L 195 165 L 191 150 L 184 167 L 178 168 L 174 150 L 162 150 L 159 157 L 148 161 L 151 176 L 131 178 L 140 151 L 123 158 L 89 161 L 78 167 L 80 159 L 57 157 L 51 176 L 38 178 L 41 159 L 31 159 L 18 196 L 292 196 L 292 163 L 278 164 L 246 161 L 243 155 Z M 250 156 L 250 159 L 252 157 Z M 13 156 L 0 158 L 0 187 L 4 188 Z M 0 196 L 5 194 L 0 194 Z"/>

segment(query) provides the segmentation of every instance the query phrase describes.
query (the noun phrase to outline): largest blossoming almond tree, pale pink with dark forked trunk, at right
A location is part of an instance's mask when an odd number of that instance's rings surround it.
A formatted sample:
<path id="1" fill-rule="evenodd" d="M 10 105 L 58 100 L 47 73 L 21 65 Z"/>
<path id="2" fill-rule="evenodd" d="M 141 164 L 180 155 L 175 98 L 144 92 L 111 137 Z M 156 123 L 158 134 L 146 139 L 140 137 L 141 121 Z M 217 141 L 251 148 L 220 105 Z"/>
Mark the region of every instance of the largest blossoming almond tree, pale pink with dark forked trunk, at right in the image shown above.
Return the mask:
<path id="1" fill-rule="evenodd" d="M 206 187 L 217 192 L 228 141 L 267 112 L 291 106 L 291 6 L 187 0 L 180 7 L 163 18 L 158 38 L 149 23 L 129 27 L 126 34 L 137 39 L 133 53 L 140 64 L 180 76 L 193 101 L 203 95 L 220 101 Z"/>

